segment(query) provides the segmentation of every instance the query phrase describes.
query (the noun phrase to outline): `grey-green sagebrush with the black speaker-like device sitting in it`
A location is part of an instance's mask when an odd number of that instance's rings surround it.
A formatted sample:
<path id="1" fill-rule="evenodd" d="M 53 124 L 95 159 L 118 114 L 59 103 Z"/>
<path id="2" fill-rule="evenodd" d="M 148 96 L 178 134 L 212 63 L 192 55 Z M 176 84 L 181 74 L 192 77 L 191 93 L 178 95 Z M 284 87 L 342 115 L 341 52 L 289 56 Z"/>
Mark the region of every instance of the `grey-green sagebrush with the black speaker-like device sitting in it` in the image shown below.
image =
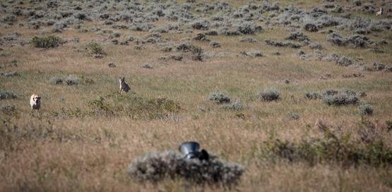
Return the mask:
<path id="1" fill-rule="evenodd" d="M 157 183 L 182 178 L 195 185 L 235 186 L 244 173 L 242 166 L 219 159 L 183 158 L 174 151 L 148 153 L 132 160 L 127 169 L 136 181 Z"/>

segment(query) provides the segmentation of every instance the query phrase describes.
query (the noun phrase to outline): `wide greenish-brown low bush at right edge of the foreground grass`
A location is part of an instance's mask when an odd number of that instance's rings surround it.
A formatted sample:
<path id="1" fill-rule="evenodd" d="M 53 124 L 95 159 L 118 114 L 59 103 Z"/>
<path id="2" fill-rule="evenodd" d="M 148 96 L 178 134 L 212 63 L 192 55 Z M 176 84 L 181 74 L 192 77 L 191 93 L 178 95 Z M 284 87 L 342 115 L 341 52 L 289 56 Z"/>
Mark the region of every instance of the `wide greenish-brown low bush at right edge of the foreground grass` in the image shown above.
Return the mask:
<path id="1" fill-rule="evenodd" d="M 386 165 L 392 164 L 392 150 L 383 141 L 361 144 L 348 140 L 348 136 L 337 136 L 328 132 L 321 139 L 309 139 L 297 143 L 291 141 L 266 141 L 261 147 L 261 156 L 270 160 L 278 158 L 289 162 L 338 162 L 342 165 Z"/>

